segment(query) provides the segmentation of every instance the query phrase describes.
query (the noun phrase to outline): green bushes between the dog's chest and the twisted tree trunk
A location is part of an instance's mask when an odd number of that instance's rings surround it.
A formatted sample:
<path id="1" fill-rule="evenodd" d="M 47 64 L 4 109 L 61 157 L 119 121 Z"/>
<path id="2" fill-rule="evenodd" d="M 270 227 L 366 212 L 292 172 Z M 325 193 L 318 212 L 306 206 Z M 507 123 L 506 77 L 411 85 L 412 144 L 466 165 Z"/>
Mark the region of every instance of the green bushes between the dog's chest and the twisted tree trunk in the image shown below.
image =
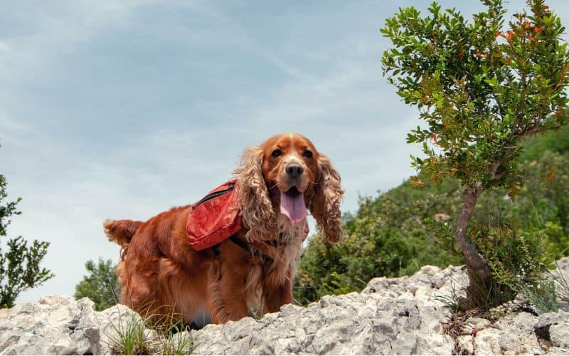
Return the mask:
<path id="1" fill-rule="evenodd" d="M 405 182 L 376 199 L 363 197 L 356 215 L 344 216 L 340 244 L 312 236 L 304 251 L 294 296 L 306 304 L 326 294 L 361 290 L 377 276 L 403 276 L 425 265 L 446 267 L 457 258 L 435 244 L 422 219 L 450 213 L 457 206 L 458 184 L 427 184 L 415 189 Z"/>

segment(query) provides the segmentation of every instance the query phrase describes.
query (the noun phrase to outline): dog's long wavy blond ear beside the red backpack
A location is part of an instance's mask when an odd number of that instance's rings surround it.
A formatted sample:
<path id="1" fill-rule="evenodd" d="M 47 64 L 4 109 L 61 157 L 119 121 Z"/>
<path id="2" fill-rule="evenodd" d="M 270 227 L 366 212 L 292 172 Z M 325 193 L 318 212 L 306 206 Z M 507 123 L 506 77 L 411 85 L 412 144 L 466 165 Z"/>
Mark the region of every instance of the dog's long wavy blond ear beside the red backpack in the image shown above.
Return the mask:
<path id="1" fill-rule="evenodd" d="M 277 218 L 262 177 L 263 151 L 260 147 L 249 147 L 243 152 L 241 162 L 233 171 L 237 179 L 237 194 L 241 205 L 241 216 L 248 228 L 248 241 L 267 241 L 275 234 Z"/>

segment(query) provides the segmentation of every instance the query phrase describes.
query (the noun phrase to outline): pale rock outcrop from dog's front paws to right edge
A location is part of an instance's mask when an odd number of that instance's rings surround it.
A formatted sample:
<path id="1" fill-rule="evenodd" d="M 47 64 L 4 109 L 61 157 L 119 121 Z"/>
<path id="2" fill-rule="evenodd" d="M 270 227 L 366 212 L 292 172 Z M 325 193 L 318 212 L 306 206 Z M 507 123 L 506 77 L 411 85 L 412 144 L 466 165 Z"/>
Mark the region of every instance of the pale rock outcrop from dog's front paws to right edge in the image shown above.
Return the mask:
<path id="1" fill-rule="evenodd" d="M 558 264 L 567 278 L 569 258 Z M 374 278 L 361 293 L 326 296 L 307 308 L 286 305 L 260 320 L 207 325 L 195 334 L 196 353 L 569 354 L 569 313 L 563 310 L 510 313 L 494 323 L 469 318 L 460 335 L 446 335 L 452 315 L 445 300 L 467 284 L 457 267 L 424 266 L 410 277 Z"/>

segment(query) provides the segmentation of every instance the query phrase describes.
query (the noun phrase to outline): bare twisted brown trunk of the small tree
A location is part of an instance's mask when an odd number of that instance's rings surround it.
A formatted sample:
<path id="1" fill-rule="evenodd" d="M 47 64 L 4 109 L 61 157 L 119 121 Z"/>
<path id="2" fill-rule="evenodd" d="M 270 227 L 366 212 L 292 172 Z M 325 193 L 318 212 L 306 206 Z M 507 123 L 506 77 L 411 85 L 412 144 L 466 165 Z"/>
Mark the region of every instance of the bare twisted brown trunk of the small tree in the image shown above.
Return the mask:
<path id="1" fill-rule="evenodd" d="M 459 246 L 466 262 L 470 284 L 467 288 L 466 308 L 484 308 L 488 305 L 491 294 L 491 275 L 486 259 L 477 251 L 476 246 L 467 241 L 467 231 L 476 206 L 482 193 L 482 184 L 469 184 L 464 192 L 464 205 L 457 221 L 457 232 L 454 241 Z"/>

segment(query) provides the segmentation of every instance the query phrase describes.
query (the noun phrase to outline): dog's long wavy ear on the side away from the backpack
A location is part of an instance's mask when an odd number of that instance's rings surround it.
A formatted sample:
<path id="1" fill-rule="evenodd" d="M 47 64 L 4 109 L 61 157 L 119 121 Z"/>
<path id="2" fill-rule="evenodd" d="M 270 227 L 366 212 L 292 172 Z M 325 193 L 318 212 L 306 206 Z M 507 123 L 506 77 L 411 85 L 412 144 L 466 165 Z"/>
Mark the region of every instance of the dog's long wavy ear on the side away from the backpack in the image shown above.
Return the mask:
<path id="1" fill-rule="evenodd" d="M 340 186 L 340 174 L 324 155 L 319 155 L 318 164 L 320 178 L 314 187 L 310 212 L 324 232 L 324 239 L 339 242 L 342 238 L 340 201 L 344 195 L 344 189 Z"/>

